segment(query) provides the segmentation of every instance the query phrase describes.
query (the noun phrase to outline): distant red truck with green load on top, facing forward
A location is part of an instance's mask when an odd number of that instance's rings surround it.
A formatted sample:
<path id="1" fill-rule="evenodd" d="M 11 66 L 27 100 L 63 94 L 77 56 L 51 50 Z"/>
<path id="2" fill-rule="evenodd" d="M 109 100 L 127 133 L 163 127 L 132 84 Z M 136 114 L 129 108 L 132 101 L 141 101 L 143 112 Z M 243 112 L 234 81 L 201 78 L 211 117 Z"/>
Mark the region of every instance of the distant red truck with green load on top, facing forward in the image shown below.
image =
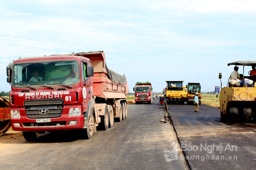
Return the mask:
<path id="1" fill-rule="evenodd" d="M 150 82 L 137 82 L 133 91 L 135 91 L 135 103 L 147 102 L 151 104 L 153 102 L 152 86 Z"/>

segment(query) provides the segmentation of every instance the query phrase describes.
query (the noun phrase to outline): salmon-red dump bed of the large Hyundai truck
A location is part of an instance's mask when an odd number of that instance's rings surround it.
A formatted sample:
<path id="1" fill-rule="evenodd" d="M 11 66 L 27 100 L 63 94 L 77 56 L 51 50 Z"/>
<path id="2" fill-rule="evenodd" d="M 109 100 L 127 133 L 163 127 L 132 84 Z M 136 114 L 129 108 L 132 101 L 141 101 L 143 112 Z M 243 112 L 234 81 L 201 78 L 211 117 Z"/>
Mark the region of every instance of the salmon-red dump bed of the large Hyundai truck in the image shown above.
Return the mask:
<path id="1" fill-rule="evenodd" d="M 93 88 L 95 96 L 105 99 L 126 98 L 126 94 L 128 94 L 126 77 L 108 69 L 103 51 L 77 53 L 74 55 L 87 57 L 91 60 L 91 64 L 94 67 Z"/>

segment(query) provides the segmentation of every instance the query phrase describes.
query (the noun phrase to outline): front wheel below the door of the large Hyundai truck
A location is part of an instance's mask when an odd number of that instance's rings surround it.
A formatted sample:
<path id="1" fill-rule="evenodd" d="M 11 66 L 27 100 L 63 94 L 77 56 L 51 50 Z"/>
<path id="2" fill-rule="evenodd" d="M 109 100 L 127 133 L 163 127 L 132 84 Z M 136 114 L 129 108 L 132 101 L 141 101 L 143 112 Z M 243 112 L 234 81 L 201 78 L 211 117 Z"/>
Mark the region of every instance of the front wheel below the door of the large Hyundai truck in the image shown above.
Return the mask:
<path id="1" fill-rule="evenodd" d="M 88 109 L 88 112 L 85 114 L 85 117 L 87 117 L 87 119 L 86 119 L 87 127 L 85 129 L 82 129 L 83 139 L 90 139 L 93 136 L 94 123 L 95 123 L 95 118 L 94 118 L 93 113 L 94 113 L 94 107 L 90 107 Z"/>

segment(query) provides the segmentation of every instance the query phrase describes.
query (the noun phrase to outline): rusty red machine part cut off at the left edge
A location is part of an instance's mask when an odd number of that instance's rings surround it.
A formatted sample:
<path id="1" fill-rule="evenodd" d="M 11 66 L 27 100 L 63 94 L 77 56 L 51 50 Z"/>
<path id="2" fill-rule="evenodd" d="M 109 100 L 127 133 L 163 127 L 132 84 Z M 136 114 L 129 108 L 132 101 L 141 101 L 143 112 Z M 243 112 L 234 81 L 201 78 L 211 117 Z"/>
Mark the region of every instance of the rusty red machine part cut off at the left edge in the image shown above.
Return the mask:
<path id="1" fill-rule="evenodd" d="M 0 136 L 11 127 L 11 107 L 10 103 L 0 96 Z"/>

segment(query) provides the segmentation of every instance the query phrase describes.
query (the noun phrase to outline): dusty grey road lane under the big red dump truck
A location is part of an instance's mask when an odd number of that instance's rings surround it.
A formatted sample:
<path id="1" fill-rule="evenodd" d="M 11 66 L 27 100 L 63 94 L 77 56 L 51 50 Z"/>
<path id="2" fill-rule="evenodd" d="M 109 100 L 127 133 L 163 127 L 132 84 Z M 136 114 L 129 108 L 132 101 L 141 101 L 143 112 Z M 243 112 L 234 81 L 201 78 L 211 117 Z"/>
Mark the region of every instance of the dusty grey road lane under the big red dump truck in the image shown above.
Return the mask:
<path id="1" fill-rule="evenodd" d="M 0 170 L 188 169 L 184 159 L 175 159 L 182 151 L 173 126 L 160 121 L 163 115 L 157 100 L 131 104 L 128 119 L 97 131 L 89 140 L 77 132 L 48 132 L 37 142 L 1 144 Z"/>

